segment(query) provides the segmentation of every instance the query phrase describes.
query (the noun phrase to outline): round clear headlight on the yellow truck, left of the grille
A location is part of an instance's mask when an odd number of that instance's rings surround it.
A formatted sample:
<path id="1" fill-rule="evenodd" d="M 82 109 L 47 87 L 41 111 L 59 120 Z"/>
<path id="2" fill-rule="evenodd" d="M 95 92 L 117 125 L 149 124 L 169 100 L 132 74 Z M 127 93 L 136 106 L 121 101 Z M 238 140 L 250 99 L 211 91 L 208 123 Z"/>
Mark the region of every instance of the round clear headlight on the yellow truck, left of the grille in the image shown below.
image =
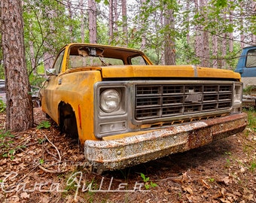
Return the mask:
<path id="1" fill-rule="evenodd" d="M 100 95 L 100 108 L 106 113 L 117 111 L 120 108 L 120 93 L 115 89 L 106 89 Z"/>

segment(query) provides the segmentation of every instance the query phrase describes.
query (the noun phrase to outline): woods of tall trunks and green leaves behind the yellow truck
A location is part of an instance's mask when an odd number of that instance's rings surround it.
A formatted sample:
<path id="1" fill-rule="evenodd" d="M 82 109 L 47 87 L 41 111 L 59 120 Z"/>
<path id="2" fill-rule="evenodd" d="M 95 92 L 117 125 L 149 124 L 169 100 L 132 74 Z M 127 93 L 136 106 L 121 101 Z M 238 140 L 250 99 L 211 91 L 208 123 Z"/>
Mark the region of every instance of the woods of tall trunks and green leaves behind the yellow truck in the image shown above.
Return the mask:
<path id="1" fill-rule="evenodd" d="M 34 85 L 69 42 L 137 48 L 155 64 L 225 69 L 256 44 L 255 0 L 24 0 L 23 20 Z"/>

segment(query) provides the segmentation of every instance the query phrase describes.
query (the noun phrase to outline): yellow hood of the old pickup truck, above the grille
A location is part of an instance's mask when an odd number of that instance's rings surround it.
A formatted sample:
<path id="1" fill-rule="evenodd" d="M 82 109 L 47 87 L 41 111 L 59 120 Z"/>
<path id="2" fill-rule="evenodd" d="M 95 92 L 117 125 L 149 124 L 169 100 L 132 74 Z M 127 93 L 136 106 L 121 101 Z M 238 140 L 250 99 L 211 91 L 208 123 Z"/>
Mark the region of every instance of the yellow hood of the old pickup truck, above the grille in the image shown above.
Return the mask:
<path id="1" fill-rule="evenodd" d="M 240 75 L 233 71 L 194 65 L 113 65 L 102 67 L 102 77 L 218 77 L 240 80 Z"/>

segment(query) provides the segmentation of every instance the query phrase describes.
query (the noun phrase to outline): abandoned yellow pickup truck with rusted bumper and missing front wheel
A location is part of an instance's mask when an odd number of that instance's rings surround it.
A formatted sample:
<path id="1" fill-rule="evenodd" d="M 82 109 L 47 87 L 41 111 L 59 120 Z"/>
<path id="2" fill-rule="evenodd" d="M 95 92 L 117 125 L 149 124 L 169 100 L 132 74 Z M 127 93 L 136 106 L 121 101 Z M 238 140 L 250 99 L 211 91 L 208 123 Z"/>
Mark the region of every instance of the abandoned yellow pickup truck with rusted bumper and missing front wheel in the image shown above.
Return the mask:
<path id="1" fill-rule="evenodd" d="M 242 132 L 233 71 L 153 65 L 139 50 L 67 44 L 41 89 L 41 106 L 79 138 L 93 170 L 126 168 Z"/>

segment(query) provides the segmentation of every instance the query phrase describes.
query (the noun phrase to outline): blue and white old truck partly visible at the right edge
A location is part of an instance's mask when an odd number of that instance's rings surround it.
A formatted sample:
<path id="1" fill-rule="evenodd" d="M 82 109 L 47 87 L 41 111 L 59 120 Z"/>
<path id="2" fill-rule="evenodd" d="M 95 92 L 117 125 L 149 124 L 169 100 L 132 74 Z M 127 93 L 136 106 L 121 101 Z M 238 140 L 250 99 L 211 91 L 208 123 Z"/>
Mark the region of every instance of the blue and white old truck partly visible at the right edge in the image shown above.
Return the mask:
<path id="1" fill-rule="evenodd" d="M 242 49 L 235 71 L 242 77 L 245 89 L 242 101 L 245 107 L 252 105 L 256 108 L 256 46 Z"/>

